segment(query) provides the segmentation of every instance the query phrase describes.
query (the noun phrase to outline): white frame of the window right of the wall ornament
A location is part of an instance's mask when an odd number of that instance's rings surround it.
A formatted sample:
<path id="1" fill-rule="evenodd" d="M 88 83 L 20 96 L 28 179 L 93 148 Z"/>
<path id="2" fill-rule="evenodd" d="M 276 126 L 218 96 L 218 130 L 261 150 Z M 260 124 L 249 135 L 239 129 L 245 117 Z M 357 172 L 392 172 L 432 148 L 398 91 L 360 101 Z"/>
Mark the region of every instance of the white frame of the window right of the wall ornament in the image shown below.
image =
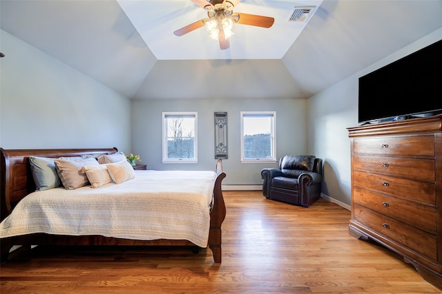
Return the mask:
<path id="1" fill-rule="evenodd" d="M 271 158 L 244 158 L 244 116 L 271 116 L 273 118 L 271 125 Z M 242 163 L 259 163 L 259 162 L 276 162 L 276 111 L 253 111 L 240 112 L 241 123 L 241 162 Z"/>

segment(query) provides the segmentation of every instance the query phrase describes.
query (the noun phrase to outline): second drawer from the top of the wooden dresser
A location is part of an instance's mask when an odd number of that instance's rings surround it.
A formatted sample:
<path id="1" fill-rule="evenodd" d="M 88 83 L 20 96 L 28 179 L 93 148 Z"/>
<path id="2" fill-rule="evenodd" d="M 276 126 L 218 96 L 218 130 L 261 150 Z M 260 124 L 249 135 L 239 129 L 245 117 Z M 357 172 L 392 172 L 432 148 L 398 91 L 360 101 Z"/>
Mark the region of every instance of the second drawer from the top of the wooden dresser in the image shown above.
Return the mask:
<path id="1" fill-rule="evenodd" d="M 371 171 L 387 176 L 400 176 L 411 180 L 434 182 L 434 160 L 381 156 L 354 156 L 355 171 Z"/>

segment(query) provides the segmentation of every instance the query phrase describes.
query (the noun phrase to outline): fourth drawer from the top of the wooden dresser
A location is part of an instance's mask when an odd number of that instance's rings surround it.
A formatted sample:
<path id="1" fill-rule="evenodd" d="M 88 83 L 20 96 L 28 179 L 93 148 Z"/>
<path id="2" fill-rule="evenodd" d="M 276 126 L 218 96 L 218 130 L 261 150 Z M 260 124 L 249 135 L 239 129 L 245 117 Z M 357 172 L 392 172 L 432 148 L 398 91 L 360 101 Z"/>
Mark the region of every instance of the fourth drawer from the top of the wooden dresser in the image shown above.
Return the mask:
<path id="1" fill-rule="evenodd" d="M 354 187 L 354 203 L 436 234 L 436 208 Z"/>

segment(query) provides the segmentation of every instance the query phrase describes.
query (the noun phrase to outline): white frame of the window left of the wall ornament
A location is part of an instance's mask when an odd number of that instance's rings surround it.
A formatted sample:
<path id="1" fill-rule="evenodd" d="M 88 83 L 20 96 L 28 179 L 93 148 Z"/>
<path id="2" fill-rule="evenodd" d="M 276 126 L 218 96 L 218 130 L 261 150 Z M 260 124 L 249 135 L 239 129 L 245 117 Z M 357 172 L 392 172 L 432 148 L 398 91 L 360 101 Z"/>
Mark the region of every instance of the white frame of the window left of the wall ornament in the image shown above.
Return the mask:
<path id="1" fill-rule="evenodd" d="M 166 118 L 170 116 L 193 116 L 194 122 L 194 143 L 193 158 L 168 158 L 167 156 L 167 123 Z M 198 162 L 198 112 L 162 112 L 162 162 L 163 163 L 197 163 Z"/>

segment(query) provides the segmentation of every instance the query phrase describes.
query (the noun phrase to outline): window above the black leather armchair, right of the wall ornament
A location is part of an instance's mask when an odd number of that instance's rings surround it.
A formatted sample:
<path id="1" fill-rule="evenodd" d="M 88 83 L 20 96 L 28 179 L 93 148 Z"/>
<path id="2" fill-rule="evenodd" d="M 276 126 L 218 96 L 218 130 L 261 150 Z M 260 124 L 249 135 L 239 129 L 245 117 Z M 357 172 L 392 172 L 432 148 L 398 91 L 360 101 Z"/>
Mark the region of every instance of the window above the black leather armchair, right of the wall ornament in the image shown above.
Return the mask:
<path id="1" fill-rule="evenodd" d="M 241 112 L 241 161 L 276 160 L 276 112 Z"/>

